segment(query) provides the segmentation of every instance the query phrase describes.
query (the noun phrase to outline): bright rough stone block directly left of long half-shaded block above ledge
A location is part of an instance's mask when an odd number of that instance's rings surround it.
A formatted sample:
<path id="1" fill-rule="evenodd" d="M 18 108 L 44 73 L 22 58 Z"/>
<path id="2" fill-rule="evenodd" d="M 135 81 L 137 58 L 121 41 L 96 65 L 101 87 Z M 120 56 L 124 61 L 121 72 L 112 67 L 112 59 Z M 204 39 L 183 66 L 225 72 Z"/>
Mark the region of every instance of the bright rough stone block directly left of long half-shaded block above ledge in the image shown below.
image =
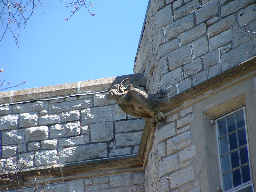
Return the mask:
<path id="1" fill-rule="evenodd" d="M 35 165 L 54 165 L 58 163 L 58 152 L 57 150 L 45 150 L 38 151 L 35 154 Z"/>

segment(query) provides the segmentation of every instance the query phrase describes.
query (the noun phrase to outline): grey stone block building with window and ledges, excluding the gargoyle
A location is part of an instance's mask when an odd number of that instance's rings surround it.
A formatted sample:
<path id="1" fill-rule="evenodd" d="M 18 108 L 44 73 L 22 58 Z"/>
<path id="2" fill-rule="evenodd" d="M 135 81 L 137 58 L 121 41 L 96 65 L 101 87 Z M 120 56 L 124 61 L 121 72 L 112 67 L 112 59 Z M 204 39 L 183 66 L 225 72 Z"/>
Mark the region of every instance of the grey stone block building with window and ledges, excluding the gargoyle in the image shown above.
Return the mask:
<path id="1" fill-rule="evenodd" d="M 2 92 L 1 169 L 26 165 L 23 192 L 42 183 L 51 192 L 254 191 L 250 31 L 255 0 L 149 1 L 134 74 Z M 126 114 L 106 99 L 126 78 L 149 98 L 167 92 L 156 101 L 161 118 Z M 1 190 L 15 191 L 17 182 L 5 182 Z"/>

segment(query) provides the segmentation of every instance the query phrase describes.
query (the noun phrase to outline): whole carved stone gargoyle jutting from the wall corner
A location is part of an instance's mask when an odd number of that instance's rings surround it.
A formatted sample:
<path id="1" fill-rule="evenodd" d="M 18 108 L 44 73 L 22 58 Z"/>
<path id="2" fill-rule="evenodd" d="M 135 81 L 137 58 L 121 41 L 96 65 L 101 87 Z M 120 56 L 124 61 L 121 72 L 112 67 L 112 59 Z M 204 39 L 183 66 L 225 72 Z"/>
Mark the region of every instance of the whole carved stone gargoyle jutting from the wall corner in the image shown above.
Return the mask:
<path id="1" fill-rule="evenodd" d="M 115 100 L 119 108 L 129 115 L 151 119 L 153 122 L 164 118 L 165 115 L 160 111 L 157 102 L 153 99 L 154 97 L 150 97 L 146 92 L 134 88 L 132 84 L 126 90 L 130 80 L 130 78 L 127 78 L 120 84 L 109 87 L 106 98 Z"/>

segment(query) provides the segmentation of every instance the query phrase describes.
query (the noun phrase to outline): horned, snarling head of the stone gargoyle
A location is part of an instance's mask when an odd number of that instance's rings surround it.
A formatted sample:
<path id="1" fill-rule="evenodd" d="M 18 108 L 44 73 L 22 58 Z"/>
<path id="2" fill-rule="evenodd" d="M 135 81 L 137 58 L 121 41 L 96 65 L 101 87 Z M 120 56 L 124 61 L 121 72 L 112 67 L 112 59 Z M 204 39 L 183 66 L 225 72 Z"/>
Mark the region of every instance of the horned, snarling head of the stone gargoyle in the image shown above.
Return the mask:
<path id="1" fill-rule="evenodd" d="M 120 97 L 125 94 L 125 89 L 128 87 L 130 80 L 130 78 L 127 78 L 124 79 L 120 84 L 114 84 L 112 87 L 109 87 L 106 98 L 108 100 L 113 99 L 115 101 L 119 101 Z"/>

